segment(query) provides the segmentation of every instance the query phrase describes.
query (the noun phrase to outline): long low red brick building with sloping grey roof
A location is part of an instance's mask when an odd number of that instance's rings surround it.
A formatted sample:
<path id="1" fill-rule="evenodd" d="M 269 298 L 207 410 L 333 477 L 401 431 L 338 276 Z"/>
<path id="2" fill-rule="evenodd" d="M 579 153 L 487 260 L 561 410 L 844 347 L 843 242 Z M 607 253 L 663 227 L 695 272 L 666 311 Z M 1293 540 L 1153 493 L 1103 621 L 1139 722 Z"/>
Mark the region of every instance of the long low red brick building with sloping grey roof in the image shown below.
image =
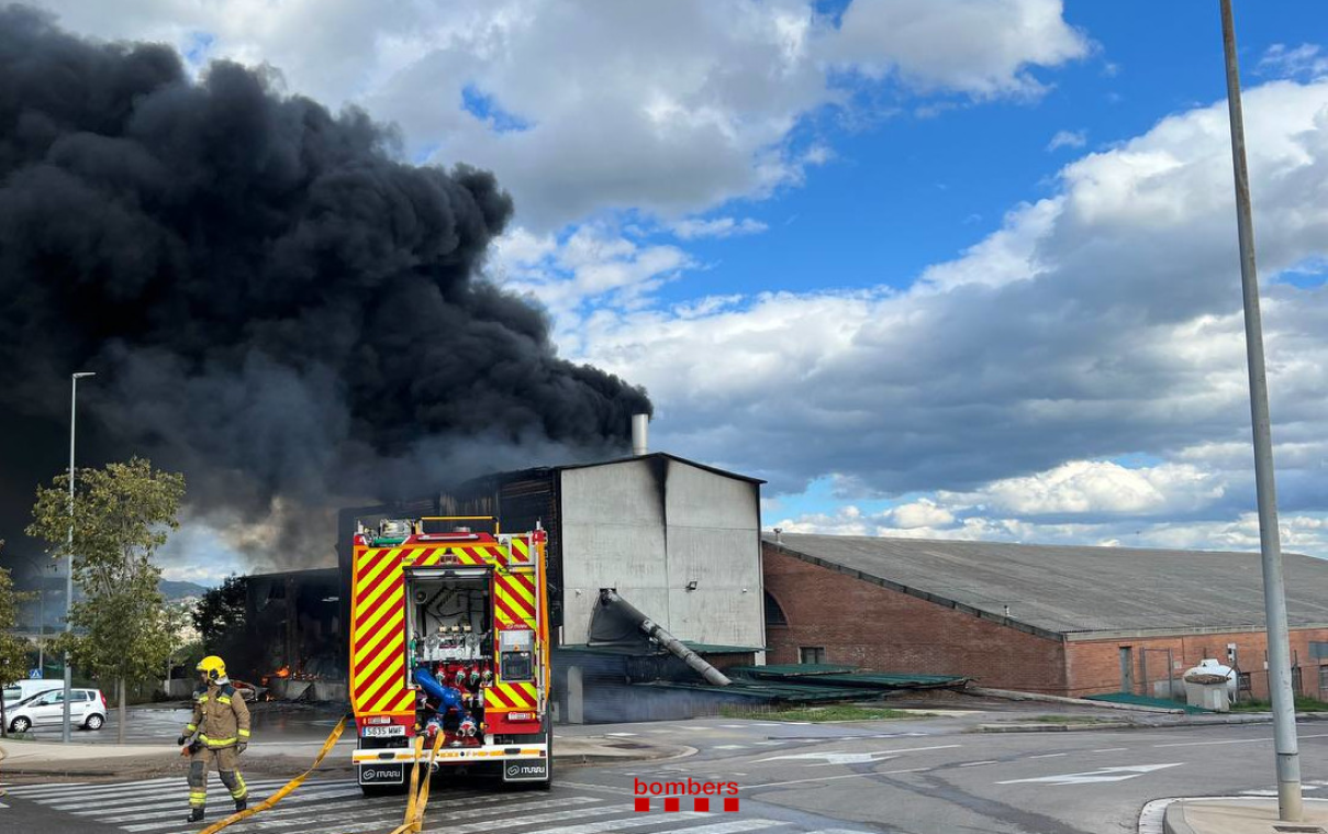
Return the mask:
<path id="1" fill-rule="evenodd" d="M 1328 560 L 1286 554 L 1297 692 L 1328 695 Z M 1267 697 L 1259 554 L 766 534 L 769 663 L 1167 696 L 1204 657 Z"/>

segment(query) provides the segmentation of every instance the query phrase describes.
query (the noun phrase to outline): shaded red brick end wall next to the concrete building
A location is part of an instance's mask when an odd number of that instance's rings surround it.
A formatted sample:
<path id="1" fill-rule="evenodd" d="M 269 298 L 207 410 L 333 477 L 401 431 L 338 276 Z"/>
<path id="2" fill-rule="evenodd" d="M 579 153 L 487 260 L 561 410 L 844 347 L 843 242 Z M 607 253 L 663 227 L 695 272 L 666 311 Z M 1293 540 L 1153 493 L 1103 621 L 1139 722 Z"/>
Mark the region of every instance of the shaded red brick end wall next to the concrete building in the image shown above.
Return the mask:
<path id="1" fill-rule="evenodd" d="M 768 663 L 798 663 L 822 647 L 827 663 L 880 672 L 967 675 L 983 687 L 1061 695 L 1060 640 L 1008 628 L 762 546 L 765 590 L 788 626 L 766 628 Z"/>

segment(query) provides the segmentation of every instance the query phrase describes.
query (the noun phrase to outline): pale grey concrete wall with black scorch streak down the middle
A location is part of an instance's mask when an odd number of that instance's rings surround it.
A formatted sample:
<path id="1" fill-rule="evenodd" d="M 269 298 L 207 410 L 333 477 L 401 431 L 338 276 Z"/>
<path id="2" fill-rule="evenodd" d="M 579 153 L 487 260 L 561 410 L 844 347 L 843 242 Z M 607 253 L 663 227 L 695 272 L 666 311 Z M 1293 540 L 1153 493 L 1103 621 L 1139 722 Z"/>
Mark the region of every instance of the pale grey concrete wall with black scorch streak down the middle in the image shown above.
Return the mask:
<path id="1" fill-rule="evenodd" d="M 664 457 L 560 478 L 566 643 L 612 587 L 681 640 L 764 644 L 756 483 Z"/>

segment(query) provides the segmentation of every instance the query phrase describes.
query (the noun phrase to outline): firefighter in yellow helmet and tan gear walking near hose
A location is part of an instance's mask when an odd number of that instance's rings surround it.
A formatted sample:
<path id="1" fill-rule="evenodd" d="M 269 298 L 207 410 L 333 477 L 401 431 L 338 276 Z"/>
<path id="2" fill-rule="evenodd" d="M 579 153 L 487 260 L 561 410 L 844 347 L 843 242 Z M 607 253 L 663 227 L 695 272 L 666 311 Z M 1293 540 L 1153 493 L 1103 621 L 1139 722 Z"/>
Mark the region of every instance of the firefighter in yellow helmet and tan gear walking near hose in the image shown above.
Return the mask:
<path id="1" fill-rule="evenodd" d="M 226 663 L 216 655 L 198 663 L 202 685 L 194 689 L 194 717 L 177 744 L 189 744 L 189 822 L 203 819 L 207 805 L 207 766 L 216 760 L 222 784 L 235 799 L 235 810 L 248 806 L 248 786 L 239 772 L 239 757 L 248 746 L 248 707 L 226 677 Z M 193 738 L 193 742 L 190 742 Z"/>

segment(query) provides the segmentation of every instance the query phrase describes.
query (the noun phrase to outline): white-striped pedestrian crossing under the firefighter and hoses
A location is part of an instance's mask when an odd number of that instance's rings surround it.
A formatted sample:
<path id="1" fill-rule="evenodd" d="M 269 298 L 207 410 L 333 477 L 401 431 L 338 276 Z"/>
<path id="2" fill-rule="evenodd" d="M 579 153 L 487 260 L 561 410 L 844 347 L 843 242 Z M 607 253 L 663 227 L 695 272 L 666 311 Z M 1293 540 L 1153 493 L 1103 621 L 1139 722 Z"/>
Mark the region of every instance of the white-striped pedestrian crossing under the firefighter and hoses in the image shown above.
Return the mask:
<path id="1" fill-rule="evenodd" d="M 258 802 L 284 780 L 250 780 Z M 591 790 L 586 790 L 591 789 Z M 126 834 L 195 834 L 185 822 L 187 790 L 182 777 L 120 784 L 9 785 L 7 799 L 33 802 L 52 814 L 52 830 L 74 830 L 72 819 L 112 825 Z M 231 813 L 231 798 L 216 780 L 208 784 L 208 822 Z M 319 780 L 303 785 L 278 806 L 230 829 L 231 834 L 377 834 L 394 829 L 405 797 L 361 795 L 353 780 Z M 57 814 L 68 814 L 58 818 Z M 438 788 L 430 794 L 424 831 L 436 834 L 859 834 L 843 827 L 806 829 L 758 813 L 635 811 L 619 790 L 590 785 L 554 793 L 485 788 Z"/>

